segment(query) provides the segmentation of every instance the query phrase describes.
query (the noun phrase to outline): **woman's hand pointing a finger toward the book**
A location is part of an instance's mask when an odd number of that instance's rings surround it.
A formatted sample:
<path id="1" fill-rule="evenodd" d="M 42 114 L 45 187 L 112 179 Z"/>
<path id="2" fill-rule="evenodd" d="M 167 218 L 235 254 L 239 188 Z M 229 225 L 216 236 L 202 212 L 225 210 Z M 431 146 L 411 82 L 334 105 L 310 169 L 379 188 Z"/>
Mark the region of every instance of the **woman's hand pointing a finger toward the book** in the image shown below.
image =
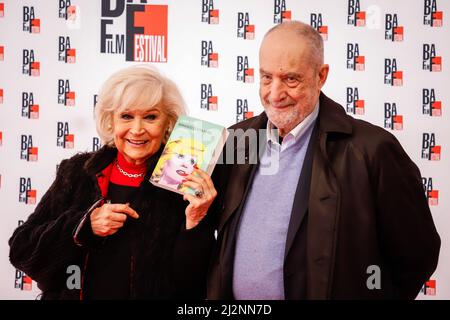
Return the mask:
<path id="1" fill-rule="evenodd" d="M 123 227 L 127 216 L 139 218 L 139 215 L 129 206 L 129 203 L 105 203 L 91 213 L 92 231 L 100 237 L 110 236 Z"/>

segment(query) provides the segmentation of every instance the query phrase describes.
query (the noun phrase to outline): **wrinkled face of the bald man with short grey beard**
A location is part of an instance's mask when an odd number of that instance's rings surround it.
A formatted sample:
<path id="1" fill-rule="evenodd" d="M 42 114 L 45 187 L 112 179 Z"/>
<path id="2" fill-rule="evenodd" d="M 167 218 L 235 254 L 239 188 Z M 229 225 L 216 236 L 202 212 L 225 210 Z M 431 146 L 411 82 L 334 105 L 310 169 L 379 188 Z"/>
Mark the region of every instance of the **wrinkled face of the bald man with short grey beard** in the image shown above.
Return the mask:
<path id="1" fill-rule="evenodd" d="M 261 102 L 284 136 L 314 110 L 328 66 L 318 66 L 308 43 L 289 29 L 274 30 L 265 37 L 259 65 Z"/>

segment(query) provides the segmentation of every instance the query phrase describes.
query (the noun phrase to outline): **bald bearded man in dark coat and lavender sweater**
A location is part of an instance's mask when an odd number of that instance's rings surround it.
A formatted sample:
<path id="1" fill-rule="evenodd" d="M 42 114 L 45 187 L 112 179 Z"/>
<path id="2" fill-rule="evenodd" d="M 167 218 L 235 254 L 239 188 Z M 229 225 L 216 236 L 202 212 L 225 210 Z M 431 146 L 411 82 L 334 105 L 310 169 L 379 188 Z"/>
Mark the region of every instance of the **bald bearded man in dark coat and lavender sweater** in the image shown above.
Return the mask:
<path id="1" fill-rule="evenodd" d="M 417 166 L 393 135 L 321 92 L 329 66 L 309 25 L 269 30 L 259 60 L 265 112 L 232 127 L 245 134 L 225 157 L 247 162 L 217 175 L 208 298 L 415 298 L 440 248 Z M 243 143 L 252 130 L 265 134 Z M 270 159 L 276 170 L 262 165 Z"/>

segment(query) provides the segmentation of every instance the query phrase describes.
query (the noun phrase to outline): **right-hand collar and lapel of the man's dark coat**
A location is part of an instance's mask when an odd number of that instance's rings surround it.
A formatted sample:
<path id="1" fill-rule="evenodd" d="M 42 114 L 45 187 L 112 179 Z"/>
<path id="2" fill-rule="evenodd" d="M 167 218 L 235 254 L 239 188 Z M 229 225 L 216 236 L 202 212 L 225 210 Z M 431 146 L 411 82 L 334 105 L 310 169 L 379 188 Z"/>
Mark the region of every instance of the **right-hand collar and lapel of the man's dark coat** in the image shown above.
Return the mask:
<path id="1" fill-rule="evenodd" d="M 331 135 L 352 134 L 344 109 L 320 95 L 319 138 L 314 152 L 307 225 L 307 297 L 330 298 L 340 207 L 340 187 L 328 157 Z"/>

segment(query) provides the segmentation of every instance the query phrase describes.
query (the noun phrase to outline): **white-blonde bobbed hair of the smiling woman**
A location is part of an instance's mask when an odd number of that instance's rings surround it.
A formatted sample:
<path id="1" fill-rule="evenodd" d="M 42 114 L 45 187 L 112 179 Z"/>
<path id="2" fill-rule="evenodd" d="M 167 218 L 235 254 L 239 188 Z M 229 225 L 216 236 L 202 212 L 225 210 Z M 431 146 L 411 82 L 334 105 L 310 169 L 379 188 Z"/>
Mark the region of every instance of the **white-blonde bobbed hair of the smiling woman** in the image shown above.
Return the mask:
<path id="1" fill-rule="evenodd" d="M 158 108 L 168 117 L 163 143 L 179 115 L 185 114 L 183 98 L 176 84 L 148 65 L 122 69 L 103 84 L 95 105 L 97 132 L 103 144 L 114 146 L 114 112 L 123 108 Z"/>

